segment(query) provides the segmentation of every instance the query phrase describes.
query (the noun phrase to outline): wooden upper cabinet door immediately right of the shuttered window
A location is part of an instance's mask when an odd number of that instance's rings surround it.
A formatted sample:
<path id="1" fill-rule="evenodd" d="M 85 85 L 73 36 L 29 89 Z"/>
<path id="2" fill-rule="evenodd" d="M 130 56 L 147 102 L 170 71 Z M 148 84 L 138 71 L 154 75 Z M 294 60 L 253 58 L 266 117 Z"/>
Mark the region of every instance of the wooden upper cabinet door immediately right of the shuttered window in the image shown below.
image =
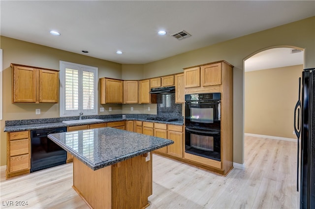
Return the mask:
<path id="1" fill-rule="evenodd" d="M 123 104 L 123 81 L 106 78 L 105 83 L 106 103 Z"/>

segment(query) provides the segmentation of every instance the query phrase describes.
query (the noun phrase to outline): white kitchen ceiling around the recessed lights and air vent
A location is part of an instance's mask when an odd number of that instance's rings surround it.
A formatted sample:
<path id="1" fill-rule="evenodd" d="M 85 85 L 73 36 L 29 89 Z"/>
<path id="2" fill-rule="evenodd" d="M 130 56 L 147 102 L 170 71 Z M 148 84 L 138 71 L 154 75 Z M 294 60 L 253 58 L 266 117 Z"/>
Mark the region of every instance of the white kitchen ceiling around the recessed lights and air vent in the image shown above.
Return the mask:
<path id="1" fill-rule="evenodd" d="M 314 0 L 0 0 L 0 35 L 143 64 L 314 15 Z M 61 35 L 50 35 L 52 29 Z M 159 36 L 160 29 L 167 34 Z M 170 36 L 180 30 L 192 36 Z"/>

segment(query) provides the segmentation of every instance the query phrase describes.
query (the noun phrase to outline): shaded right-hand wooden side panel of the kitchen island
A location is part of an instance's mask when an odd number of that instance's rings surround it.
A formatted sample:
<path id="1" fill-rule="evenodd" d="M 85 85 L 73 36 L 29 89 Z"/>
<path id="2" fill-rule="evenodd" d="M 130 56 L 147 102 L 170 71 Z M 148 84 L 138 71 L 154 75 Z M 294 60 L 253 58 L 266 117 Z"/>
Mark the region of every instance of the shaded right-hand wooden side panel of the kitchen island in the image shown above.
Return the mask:
<path id="1" fill-rule="evenodd" d="M 112 166 L 112 208 L 146 208 L 152 195 L 152 152 Z"/>

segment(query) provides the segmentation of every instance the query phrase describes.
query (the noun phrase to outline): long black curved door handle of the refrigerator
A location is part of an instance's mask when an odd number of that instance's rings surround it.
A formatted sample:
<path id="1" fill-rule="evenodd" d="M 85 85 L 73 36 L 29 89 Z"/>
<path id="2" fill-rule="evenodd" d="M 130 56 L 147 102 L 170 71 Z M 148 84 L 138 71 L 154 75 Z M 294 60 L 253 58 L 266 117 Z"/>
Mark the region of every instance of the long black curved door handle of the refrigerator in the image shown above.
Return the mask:
<path id="1" fill-rule="evenodd" d="M 301 100 L 300 100 L 300 92 L 301 92 L 301 78 L 299 78 L 299 98 L 294 108 L 294 132 L 297 136 L 297 170 L 296 170 L 296 191 L 299 191 L 299 157 L 300 157 L 300 135 L 301 135 L 301 127 L 300 127 L 300 110 L 301 110 Z M 297 120 L 296 120 L 296 112 L 297 112 Z"/>

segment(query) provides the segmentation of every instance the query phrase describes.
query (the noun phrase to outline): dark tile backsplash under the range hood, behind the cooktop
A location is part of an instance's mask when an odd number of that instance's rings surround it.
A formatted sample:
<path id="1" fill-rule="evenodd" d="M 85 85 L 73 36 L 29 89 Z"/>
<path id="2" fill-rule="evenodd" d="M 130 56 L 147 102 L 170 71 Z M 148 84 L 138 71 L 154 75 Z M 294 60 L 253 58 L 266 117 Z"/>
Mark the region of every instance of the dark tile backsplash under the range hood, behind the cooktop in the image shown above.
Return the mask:
<path id="1" fill-rule="evenodd" d="M 182 104 L 175 103 L 175 94 L 157 95 L 157 115 L 163 118 L 182 118 Z"/>

